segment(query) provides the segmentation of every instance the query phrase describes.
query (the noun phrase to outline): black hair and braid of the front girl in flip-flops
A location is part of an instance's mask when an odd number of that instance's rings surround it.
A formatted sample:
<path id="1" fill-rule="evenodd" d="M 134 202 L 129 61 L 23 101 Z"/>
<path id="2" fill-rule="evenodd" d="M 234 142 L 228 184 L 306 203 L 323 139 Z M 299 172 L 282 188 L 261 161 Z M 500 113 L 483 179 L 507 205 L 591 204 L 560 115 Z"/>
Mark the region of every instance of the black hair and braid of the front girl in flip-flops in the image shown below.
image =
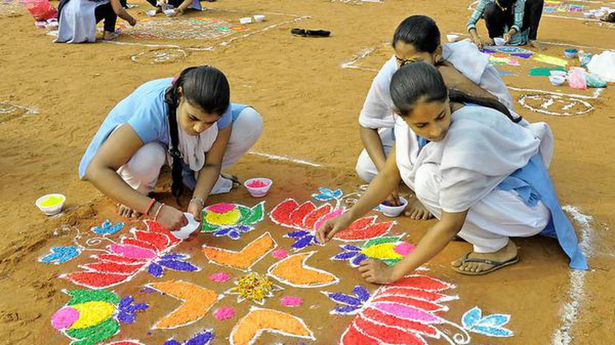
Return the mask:
<path id="1" fill-rule="evenodd" d="M 497 99 L 472 96 L 459 90 L 448 90 L 438 69 L 421 61 L 400 67 L 391 79 L 389 90 L 397 114 L 402 117 L 408 116 L 419 100 L 426 103 L 444 102 L 448 98 L 451 102 L 474 103 L 498 110 L 515 123 L 521 121 L 521 117 L 512 117 L 510 110 Z"/>

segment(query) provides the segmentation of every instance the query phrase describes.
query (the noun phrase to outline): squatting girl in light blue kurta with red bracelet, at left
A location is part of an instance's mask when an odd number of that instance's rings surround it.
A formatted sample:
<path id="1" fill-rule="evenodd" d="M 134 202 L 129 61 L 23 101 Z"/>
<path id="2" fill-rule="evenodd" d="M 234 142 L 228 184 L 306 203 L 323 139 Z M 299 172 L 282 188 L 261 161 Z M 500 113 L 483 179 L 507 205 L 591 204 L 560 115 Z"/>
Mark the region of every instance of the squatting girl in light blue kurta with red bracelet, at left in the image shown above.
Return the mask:
<path id="1" fill-rule="evenodd" d="M 183 212 L 150 198 L 160 170 L 172 165 L 173 195 L 193 190 L 196 220 L 209 195 L 231 190 L 223 177 L 263 130 L 252 107 L 230 103 L 229 83 L 210 66 L 187 68 L 177 79 L 147 82 L 109 112 L 79 165 L 79 177 L 121 203 L 127 217 L 143 213 L 167 230 L 188 223 Z"/>

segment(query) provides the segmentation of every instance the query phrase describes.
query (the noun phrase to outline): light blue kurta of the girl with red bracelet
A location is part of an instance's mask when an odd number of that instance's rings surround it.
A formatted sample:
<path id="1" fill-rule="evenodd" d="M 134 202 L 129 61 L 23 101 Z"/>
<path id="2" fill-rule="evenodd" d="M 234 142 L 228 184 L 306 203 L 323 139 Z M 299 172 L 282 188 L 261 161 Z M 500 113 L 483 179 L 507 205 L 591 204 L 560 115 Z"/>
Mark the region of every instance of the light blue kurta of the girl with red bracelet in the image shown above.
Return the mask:
<path id="1" fill-rule="evenodd" d="M 157 141 L 169 147 L 169 125 L 167 123 L 169 107 L 164 102 L 164 94 L 172 83 L 173 78 L 151 80 L 117 103 L 85 150 L 81 163 L 79 163 L 79 178 L 84 177 L 85 170 L 98 149 L 122 123 L 128 123 L 141 138 L 143 144 Z M 218 129 L 222 130 L 231 125 L 245 107 L 247 106 L 243 104 L 231 103 L 229 109 L 218 119 Z"/>

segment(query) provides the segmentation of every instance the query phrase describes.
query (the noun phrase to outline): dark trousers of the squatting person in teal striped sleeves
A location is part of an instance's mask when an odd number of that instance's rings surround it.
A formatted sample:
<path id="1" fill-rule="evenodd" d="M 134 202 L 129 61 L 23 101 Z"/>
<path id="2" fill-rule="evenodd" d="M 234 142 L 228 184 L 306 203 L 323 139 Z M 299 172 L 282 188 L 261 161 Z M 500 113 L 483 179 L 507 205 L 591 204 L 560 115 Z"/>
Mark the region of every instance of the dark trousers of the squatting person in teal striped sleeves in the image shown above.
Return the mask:
<path id="1" fill-rule="evenodd" d="M 525 31 L 530 28 L 529 38 L 532 41 L 538 36 L 538 26 L 540 24 L 540 18 L 542 17 L 543 6 L 544 0 L 525 1 L 525 12 L 523 14 L 523 26 L 521 31 Z M 489 37 L 502 37 L 504 35 L 504 26 L 508 26 L 510 28 L 515 23 L 513 5 L 511 4 L 505 11 L 503 11 L 494 3 L 488 4 L 485 6 L 483 18 L 485 18 L 485 25 L 487 26 Z"/>

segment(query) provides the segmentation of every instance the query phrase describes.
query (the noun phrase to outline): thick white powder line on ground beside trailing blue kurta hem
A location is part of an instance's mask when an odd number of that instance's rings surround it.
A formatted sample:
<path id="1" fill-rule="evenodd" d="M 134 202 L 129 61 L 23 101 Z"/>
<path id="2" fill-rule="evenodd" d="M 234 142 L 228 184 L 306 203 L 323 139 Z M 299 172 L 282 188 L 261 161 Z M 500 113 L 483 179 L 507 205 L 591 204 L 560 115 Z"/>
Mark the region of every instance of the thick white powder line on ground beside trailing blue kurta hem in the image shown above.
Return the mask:
<path id="1" fill-rule="evenodd" d="M 581 210 L 572 205 L 565 205 L 561 207 L 564 211 L 574 219 L 574 221 L 581 226 L 581 242 L 579 246 L 584 254 L 589 258 L 593 254 L 593 228 L 591 215 L 585 215 L 581 213 Z M 572 344 L 573 337 L 570 334 L 574 325 L 577 322 L 580 309 L 582 308 L 585 297 L 585 275 L 587 271 L 580 269 L 570 269 L 570 282 L 568 284 L 568 298 L 560 311 L 560 327 L 557 328 L 552 337 L 552 344 L 554 345 L 569 345 Z"/>

